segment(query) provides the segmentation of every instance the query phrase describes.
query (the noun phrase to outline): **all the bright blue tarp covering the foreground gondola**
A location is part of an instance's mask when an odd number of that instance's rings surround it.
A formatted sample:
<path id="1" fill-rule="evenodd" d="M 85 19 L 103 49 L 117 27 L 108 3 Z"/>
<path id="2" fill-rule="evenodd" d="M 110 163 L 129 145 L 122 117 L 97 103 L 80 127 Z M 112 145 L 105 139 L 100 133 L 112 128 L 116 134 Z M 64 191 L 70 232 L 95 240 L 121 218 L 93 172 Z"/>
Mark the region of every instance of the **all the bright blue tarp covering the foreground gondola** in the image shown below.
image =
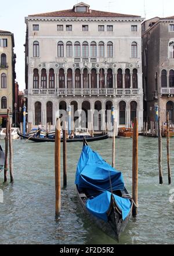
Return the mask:
<path id="1" fill-rule="evenodd" d="M 82 149 L 77 165 L 75 184 L 79 190 L 88 190 L 91 197 L 86 202 L 86 208 L 104 221 L 107 221 L 107 211 L 111 203 L 111 190 L 123 190 L 125 188 L 121 172 L 107 164 L 89 146 L 84 146 Z M 131 201 L 115 194 L 113 196 L 121 211 L 122 219 L 125 219 L 131 210 Z"/>

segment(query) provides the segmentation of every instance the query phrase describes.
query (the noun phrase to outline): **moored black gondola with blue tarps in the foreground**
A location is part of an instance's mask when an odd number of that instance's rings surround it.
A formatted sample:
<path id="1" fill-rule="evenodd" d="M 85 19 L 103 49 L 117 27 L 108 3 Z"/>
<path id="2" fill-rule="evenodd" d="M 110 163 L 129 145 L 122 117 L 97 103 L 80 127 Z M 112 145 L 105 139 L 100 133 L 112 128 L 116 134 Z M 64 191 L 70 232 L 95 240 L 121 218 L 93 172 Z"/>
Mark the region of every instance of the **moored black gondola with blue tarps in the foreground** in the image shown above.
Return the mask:
<path id="1" fill-rule="evenodd" d="M 75 184 L 85 213 L 107 235 L 119 240 L 132 212 L 132 196 L 125 188 L 121 172 L 90 149 L 85 139 Z"/>

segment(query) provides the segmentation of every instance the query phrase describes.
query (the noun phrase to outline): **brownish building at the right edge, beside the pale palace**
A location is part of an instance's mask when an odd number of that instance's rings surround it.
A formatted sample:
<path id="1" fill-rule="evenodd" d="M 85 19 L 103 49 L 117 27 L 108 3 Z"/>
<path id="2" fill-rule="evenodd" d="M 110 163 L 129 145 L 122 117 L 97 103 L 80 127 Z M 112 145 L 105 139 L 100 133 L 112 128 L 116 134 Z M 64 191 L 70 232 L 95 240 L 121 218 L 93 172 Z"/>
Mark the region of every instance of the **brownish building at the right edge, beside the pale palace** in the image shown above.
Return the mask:
<path id="1" fill-rule="evenodd" d="M 144 118 L 154 121 L 155 105 L 162 122 L 174 124 L 174 16 L 142 24 Z"/>

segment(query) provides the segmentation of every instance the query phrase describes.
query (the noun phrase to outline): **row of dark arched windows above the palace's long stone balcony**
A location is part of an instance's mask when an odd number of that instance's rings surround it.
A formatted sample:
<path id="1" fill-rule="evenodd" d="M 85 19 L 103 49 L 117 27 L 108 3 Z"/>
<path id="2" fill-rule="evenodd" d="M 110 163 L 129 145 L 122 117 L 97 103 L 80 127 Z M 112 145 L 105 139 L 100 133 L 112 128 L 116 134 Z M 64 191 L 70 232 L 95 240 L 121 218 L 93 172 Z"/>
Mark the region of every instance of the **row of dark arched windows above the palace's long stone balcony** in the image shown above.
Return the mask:
<path id="1" fill-rule="evenodd" d="M 46 69 L 42 68 L 41 70 L 41 84 L 40 88 L 42 89 L 53 89 L 55 88 L 55 72 L 53 68 L 50 68 L 49 70 L 49 78 L 47 80 L 47 74 Z M 73 70 L 71 68 L 68 68 L 67 70 L 67 80 L 65 79 L 65 73 L 64 69 L 60 68 L 59 70 L 59 88 L 73 88 Z M 82 75 L 82 80 L 81 80 Z M 89 88 L 89 79 L 90 79 L 90 86 L 91 88 L 97 88 L 97 71 L 96 68 L 92 68 L 90 77 L 89 77 L 89 71 L 87 68 L 84 68 L 83 74 L 81 74 L 81 70 L 77 68 L 75 70 L 75 88 L 81 88 L 81 81 L 83 82 L 83 88 Z M 129 68 L 126 68 L 125 74 L 123 75 L 122 69 L 118 68 L 117 71 L 117 88 L 123 88 L 123 80 L 125 80 L 125 88 L 131 88 L 131 74 Z M 67 81 L 67 85 L 65 82 Z M 105 87 L 105 82 L 107 83 L 107 88 L 113 88 L 113 70 L 111 68 L 108 68 L 107 75 L 105 78 L 104 74 L 104 68 L 100 68 L 99 70 L 99 88 Z M 33 88 L 38 89 L 39 88 L 39 71 L 37 68 L 34 69 L 33 74 Z M 47 83 L 48 86 L 47 86 Z M 137 88 L 137 69 L 133 69 L 132 74 L 132 88 Z"/>

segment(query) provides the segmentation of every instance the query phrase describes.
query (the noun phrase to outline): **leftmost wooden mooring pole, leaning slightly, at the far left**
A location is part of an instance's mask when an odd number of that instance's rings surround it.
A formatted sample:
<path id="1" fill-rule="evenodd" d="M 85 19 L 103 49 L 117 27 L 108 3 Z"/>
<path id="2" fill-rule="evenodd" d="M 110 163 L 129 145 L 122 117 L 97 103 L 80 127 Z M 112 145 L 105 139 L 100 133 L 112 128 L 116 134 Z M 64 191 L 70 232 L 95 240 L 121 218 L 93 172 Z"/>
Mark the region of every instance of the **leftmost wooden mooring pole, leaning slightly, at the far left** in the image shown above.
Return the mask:
<path id="1" fill-rule="evenodd" d="M 9 140 L 9 109 L 6 117 L 6 135 L 5 135 L 5 163 L 4 163 L 4 182 L 7 181 L 8 172 L 8 140 Z"/>

